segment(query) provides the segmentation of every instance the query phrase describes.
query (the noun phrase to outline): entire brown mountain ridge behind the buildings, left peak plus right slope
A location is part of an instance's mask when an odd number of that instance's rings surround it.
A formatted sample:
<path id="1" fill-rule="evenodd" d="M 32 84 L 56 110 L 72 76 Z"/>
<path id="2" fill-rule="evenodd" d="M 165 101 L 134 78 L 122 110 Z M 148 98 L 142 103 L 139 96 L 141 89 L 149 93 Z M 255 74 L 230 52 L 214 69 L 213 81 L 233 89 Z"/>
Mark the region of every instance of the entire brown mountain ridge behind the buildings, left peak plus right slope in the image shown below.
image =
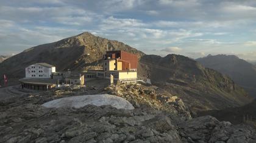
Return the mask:
<path id="1" fill-rule="evenodd" d="M 151 79 L 152 84 L 181 97 L 191 110 L 216 110 L 236 107 L 251 101 L 243 88 L 230 78 L 203 67 L 199 62 L 180 55 L 145 55 L 124 44 L 85 32 L 50 44 L 38 45 L 6 59 L 0 64 L 0 75 L 23 78 L 24 68 L 37 62 L 55 65 L 57 71 L 84 71 L 101 63 L 109 50 L 124 50 L 137 54 L 138 76 Z"/>

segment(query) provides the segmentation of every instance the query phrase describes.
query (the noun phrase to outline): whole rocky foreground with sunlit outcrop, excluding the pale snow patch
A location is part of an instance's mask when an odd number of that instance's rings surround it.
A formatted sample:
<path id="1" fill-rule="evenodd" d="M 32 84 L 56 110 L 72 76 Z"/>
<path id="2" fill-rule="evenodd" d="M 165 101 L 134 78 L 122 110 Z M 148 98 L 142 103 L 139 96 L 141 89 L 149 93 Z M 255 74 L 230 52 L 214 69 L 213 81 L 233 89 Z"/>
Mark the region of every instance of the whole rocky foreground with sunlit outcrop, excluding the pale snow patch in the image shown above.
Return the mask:
<path id="1" fill-rule="evenodd" d="M 134 90 L 129 92 L 130 88 Z M 191 119 L 180 99 L 158 95 L 158 91 L 141 85 L 111 85 L 97 90 L 87 87 L 27 93 L 1 101 L 0 142 L 256 142 L 252 127 L 219 122 L 212 116 Z M 119 91 L 117 95 L 135 109 L 41 106 L 52 99 L 96 91 Z"/>

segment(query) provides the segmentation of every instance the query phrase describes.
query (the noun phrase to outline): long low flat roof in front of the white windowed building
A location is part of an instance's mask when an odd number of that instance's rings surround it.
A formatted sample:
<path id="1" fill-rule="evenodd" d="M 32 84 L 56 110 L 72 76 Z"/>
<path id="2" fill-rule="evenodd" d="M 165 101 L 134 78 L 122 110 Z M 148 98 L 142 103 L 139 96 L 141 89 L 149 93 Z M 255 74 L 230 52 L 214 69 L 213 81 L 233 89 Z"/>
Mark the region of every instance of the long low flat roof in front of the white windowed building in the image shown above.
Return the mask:
<path id="1" fill-rule="evenodd" d="M 57 79 L 41 79 L 41 78 L 22 78 L 22 79 L 19 79 L 19 81 L 26 84 L 36 84 L 36 85 L 52 85 L 57 83 Z"/>

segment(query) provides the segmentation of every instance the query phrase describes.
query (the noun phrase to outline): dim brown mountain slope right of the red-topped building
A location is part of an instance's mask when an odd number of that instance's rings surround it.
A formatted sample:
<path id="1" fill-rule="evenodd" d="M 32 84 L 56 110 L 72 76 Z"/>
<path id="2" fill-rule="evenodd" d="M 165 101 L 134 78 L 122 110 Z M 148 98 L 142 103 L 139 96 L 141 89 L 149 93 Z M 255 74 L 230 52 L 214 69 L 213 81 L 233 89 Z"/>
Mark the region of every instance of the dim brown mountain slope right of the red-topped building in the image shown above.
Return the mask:
<path id="1" fill-rule="evenodd" d="M 140 59 L 138 73 L 180 96 L 194 111 L 235 107 L 251 100 L 230 78 L 185 56 L 145 55 Z"/>

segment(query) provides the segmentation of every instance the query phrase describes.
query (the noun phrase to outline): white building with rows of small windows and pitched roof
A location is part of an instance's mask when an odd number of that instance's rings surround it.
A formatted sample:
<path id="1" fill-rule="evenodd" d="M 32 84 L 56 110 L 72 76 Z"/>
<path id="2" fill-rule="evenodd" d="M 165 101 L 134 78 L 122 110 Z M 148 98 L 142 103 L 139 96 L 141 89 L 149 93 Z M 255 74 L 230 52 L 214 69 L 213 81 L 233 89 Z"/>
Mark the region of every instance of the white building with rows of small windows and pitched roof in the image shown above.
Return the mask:
<path id="1" fill-rule="evenodd" d="M 26 67 L 26 78 L 51 78 L 55 66 L 47 63 L 37 63 Z"/>

